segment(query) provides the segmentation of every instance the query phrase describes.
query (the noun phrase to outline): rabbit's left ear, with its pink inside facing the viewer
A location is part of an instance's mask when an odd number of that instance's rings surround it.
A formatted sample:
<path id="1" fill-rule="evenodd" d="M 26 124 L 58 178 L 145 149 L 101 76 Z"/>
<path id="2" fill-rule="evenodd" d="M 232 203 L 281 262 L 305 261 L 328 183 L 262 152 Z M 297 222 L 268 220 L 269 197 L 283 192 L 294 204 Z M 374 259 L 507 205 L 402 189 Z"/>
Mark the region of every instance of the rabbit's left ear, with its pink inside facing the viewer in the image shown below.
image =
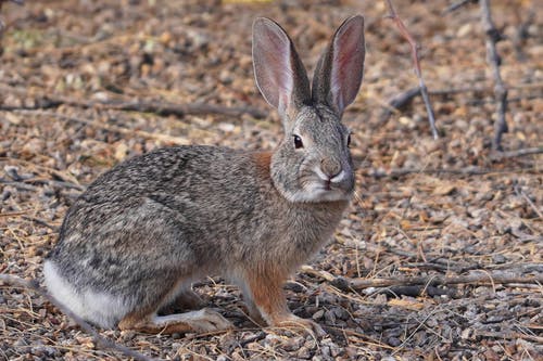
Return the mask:
<path id="1" fill-rule="evenodd" d="M 311 101 L 310 80 L 294 44 L 279 24 L 266 17 L 253 24 L 253 65 L 262 95 L 283 118 Z"/>

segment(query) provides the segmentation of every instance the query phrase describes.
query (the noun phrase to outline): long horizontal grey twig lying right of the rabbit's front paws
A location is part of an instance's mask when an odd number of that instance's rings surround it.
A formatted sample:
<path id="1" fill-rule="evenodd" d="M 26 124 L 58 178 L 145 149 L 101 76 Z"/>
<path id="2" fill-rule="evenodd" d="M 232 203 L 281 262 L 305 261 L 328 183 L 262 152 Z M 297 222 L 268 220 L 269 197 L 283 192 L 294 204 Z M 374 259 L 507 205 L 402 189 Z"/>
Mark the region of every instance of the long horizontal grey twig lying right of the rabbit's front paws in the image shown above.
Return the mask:
<path id="1" fill-rule="evenodd" d="M 332 282 L 338 288 L 363 289 L 368 287 L 389 287 L 399 285 L 450 285 L 450 284 L 507 284 L 507 283 L 543 283 L 543 274 L 534 275 L 512 275 L 504 272 L 487 272 L 484 274 L 468 274 L 468 275 L 424 275 L 413 278 L 391 278 L 391 279 L 345 279 L 339 278 Z"/>

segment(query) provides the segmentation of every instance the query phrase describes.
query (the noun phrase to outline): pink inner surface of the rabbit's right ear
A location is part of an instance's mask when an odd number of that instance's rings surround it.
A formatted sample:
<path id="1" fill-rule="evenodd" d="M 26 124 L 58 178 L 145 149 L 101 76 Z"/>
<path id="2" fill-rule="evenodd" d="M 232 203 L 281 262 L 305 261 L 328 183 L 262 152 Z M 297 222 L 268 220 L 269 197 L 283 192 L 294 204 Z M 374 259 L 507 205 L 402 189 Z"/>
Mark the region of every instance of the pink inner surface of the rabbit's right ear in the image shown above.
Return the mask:
<path id="1" fill-rule="evenodd" d="M 361 23 L 346 24 L 333 41 L 333 61 L 330 90 L 336 105 L 342 112 L 358 92 L 364 66 L 364 28 Z"/>

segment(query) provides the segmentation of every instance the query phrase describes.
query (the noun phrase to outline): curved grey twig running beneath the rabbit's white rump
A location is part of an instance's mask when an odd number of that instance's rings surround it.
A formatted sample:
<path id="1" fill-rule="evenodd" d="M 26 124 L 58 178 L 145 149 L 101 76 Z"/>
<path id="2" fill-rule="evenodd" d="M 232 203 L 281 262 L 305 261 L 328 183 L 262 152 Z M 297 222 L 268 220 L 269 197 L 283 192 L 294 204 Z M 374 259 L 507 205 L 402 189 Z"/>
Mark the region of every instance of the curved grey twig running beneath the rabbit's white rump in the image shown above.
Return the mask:
<path id="1" fill-rule="evenodd" d="M 135 351 L 126 346 L 118 345 L 113 340 L 101 336 L 90 324 L 88 324 L 80 317 L 72 312 L 70 309 L 65 308 L 61 302 L 59 302 L 53 296 L 41 288 L 36 281 L 27 281 L 11 274 L 0 274 L 0 282 L 7 283 L 12 286 L 23 287 L 26 289 L 31 289 L 45 297 L 48 301 L 53 304 L 63 313 L 74 320 L 86 333 L 92 336 L 94 343 L 103 348 L 112 349 L 117 352 L 125 354 L 126 357 L 134 358 L 135 360 L 151 361 L 153 359 Z"/>

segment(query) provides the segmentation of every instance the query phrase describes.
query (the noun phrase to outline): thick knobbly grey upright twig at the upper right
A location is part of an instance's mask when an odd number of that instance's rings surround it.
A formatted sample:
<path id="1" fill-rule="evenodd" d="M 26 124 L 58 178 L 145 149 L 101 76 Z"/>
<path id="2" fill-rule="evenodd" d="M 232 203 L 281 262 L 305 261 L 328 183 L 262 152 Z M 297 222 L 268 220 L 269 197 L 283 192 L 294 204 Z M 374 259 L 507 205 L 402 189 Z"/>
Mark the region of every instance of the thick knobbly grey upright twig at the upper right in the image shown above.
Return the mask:
<path id="1" fill-rule="evenodd" d="M 500 74 L 500 64 L 502 62 L 496 50 L 496 42 L 502 40 L 502 35 L 496 29 L 492 22 L 490 13 L 490 1 L 479 0 L 481 7 L 481 25 L 487 34 L 487 61 L 492 67 L 494 76 L 494 98 L 496 101 L 496 123 L 494 124 L 494 139 L 492 140 L 492 149 L 502 151 L 502 136 L 507 132 L 507 123 L 505 120 L 505 112 L 507 112 L 507 89 Z"/>

